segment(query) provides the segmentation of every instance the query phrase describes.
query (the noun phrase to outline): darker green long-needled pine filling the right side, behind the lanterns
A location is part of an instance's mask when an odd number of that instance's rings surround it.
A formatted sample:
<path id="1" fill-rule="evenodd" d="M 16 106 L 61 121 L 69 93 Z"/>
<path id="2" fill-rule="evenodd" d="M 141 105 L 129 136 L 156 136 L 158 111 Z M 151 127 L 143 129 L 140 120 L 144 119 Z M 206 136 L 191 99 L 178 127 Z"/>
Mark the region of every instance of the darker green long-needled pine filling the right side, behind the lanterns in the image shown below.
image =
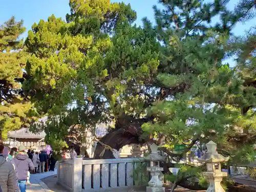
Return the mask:
<path id="1" fill-rule="evenodd" d="M 210 139 L 221 148 L 231 147 L 236 137 L 243 138 L 239 146 L 255 143 L 252 109 L 256 90 L 251 54 L 255 48 L 246 45 L 253 35 L 238 41 L 231 33 L 247 15 L 227 10 L 228 1 L 161 2 L 166 9 L 155 7 L 159 40 L 163 42 L 158 78 L 170 98 L 155 103 L 150 112 L 156 113 L 158 123 L 145 124 L 144 130 L 169 134 L 166 138 L 175 143 L 190 141 L 188 148 Z M 220 21 L 212 22 L 217 15 Z M 246 47 L 251 49 L 242 59 Z M 239 56 L 236 68 L 222 64 L 234 54 Z M 243 77 L 246 74 L 242 71 L 250 71 L 250 77 Z M 244 136 L 239 134 L 246 130 L 242 122 L 250 122 L 250 131 Z M 248 132 L 253 136 L 246 135 Z"/>

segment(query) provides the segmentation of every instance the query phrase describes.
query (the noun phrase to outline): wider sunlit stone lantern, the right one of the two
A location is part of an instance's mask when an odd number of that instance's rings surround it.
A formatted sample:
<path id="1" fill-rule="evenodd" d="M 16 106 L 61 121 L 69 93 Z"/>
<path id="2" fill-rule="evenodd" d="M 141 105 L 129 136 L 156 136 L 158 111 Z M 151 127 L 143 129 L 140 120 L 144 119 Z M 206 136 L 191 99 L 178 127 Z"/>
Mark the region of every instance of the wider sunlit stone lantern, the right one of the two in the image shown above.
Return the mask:
<path id="1" fill-rule="evenodd" d="M 198 158 L 199 162 L 205 162 L 207 166 L 207 172 L 204 172 L 204 176 L 208 178 L 209 187 L 206 192 L 225 192 L 221 186 L 223 177 L 227 177 L 227 173 L 221 171 L 221 162 L 228 161 L 228 157 L 224 157 L 217 152 L 217 144 L 210 141 L 206 144 L 207 152 L 202 158 Z"/>

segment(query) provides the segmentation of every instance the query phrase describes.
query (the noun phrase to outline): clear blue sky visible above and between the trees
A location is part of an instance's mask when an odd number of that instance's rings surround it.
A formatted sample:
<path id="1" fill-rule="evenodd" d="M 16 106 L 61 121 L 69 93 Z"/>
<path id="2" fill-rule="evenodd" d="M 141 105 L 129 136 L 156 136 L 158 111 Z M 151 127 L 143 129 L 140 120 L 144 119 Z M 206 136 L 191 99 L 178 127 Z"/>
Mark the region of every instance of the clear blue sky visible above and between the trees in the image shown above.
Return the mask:
<path id="1" fill-rule="evenodd" d="M 121 2 L 121 1 L 112 1 Z M 130 3 L 132 8 L 137 12 L 138 25 L 141 25 L 141 19 L 146 16 L 154 22 L 153 5 L 157 4 L 157 0 L 123 0 L 124 3 Z M 239 0 L 231 0 L 228 4 L 229 9 L 233 9 Z M 11 16 L 15 16 L 17 20 L 23 19 L 27 31 L 31 29 L 34 23 L 38 23 L 40 19 L 47 20 L 49 16 L 54 14 L 56 17 L 65 19 L 66 13 L 70 12 L 69 0 L 44 0 L 44 1 L 2 1 L 0 4 L 0 24 L 8 20 Z M 256 18 L 246 22 L 245 24 L 238 24 L 233 33 L 236 35 L 243 35 L 245 30 L 256 24 Z M 27 32 L 23 35 L 26 37 Z M 234 65 L 232 59 L 229 59 L 231 66 Z"/>

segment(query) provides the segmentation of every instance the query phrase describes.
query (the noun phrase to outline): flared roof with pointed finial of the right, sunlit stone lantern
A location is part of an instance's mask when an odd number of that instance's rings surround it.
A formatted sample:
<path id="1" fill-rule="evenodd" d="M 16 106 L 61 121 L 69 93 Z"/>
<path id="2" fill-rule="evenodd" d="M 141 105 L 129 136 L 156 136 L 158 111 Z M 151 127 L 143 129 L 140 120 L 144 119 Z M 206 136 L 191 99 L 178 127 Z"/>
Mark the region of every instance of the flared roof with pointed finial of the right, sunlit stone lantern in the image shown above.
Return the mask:
<path id="1" fill-rule="evenodd" d="M 210 141 L 206 144 L 207 152 L 206 154 L 198 158 L 199 162 L 206 162 L 206 163 L 214 163 L 214 162 L 226 162 L 228 161 L 229 157 L 224 157 L 217 152 L 217 144 L 213 141 Z"/>

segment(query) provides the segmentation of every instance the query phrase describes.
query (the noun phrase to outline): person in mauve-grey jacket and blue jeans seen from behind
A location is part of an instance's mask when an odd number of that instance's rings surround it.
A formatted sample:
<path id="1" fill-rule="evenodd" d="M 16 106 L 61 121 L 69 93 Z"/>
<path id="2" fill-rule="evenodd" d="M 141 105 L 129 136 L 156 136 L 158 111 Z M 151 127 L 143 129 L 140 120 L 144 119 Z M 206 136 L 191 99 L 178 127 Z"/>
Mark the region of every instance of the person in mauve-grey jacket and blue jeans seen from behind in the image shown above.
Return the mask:
<path id="1" fill-rule="evenodd" d="M 29 159 L 28 154 L 25 152 L 25 149 L 25 146 L 20 145 L 18 147 L 18 155 L 11 161 L 16 167 L 20 192 L 26 191 L 28 171 L 34 170 L 35 168 L 33 162 L 31 159 Z"/>

